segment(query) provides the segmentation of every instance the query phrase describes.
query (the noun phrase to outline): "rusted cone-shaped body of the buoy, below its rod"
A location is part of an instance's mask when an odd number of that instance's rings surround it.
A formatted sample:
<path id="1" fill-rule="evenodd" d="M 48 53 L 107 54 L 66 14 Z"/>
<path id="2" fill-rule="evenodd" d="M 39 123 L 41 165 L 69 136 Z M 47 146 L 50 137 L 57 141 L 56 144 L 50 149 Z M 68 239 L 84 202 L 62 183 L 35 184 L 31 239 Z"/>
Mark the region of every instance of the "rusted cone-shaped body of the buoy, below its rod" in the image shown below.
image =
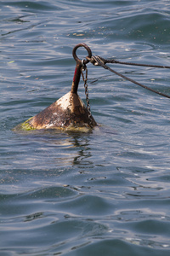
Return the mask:
<path id="1" fill-rule="evenodd" d="M 69 126 L 90 127 L 88 109 L 81 98 L 72 92 L 62 96 L 57 102 L 37 113 L 36 116 L 28 120 L 28 123 L 32 129 L 37 130 Z M 93 125 L 97 125 L 94 119 Z"/>

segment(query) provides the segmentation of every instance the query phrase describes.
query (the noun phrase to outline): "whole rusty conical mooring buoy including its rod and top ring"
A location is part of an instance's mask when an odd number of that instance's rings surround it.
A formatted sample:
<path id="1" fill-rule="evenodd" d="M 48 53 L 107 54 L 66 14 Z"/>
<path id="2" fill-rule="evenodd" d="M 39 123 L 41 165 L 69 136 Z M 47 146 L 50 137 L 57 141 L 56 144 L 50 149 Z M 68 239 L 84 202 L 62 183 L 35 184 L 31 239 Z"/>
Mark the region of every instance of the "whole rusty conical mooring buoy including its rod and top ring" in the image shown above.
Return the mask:
<path id="1" fill-rule="evenodd" d="M 22 130 L 41 130 L 41 129 L 61 129 L 61 130 L 80 130 L 81 128 L 93 129 L 97 125 L 88 108 L 78 96 L 78 84 L 81 77 L 82 65 L 86 65 L 88 60 L 80 60 L 76 50 L 84 47 L 88 51 L 88 58 L 91 58 L 91 49 L 86 44 L 77 44 L 72 51 L 72 55 L 77 61 L 75 73 L 71 85 L 71 91 L 52 103 L 48 108 L 37 113 L 31 119 L 27 119 L 20 124 Z"/>

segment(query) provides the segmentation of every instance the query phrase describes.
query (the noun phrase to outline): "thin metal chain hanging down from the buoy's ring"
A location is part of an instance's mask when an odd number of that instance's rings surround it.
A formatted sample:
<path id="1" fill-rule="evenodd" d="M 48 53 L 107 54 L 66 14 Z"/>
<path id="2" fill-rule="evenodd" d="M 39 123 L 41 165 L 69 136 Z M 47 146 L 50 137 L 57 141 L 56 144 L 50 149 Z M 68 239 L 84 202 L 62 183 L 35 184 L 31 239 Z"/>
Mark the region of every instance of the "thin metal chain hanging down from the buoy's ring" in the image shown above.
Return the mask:
<path id="1" fill-rule="evenodd" d="M 84 77 L 83 71 L 86 72 L 86 78 Z M 89 97 L 88 97 L 88 68 L 86 67 L 86 64 L 84 64 L 82 60 L 82 80 L 84 81 L 84 89 L 85 89 L 85 95 L 86 95 L 86 102 L 87 102 L 87 109 L 88 109 L 88 119 L 89 119 L 89 125 L 91 128 L 94 127 L 93 125 L 93 118 L 92 118 L 92 113 L 90 110 L 90 102 L 89 102 Z"/>

